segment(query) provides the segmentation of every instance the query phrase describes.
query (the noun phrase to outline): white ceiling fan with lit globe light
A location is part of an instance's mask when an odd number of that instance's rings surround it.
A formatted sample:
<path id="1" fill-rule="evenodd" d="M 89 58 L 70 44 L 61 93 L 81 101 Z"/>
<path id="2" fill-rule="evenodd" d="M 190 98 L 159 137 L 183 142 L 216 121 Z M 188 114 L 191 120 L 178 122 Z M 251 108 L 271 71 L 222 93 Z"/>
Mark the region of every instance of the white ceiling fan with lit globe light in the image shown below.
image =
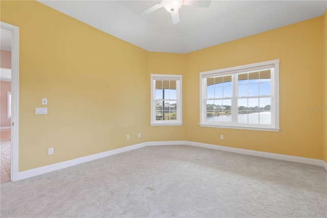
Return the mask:
<path id="1" fill-rule="evenodd" d="M 164 7 L 168 12 L 172 14 L 173 24 L 178 24 L 179 23 L 178 9 L 183 5 L 208 8 L 210 4 L 211 4 L 211 0 L 197 0 L 197 1 L 196 0 L 162 0 L 162 2 L 139 12 L 139 14 L 146 15 L 155 10 L 158 10 L 159 8 Z"/>

